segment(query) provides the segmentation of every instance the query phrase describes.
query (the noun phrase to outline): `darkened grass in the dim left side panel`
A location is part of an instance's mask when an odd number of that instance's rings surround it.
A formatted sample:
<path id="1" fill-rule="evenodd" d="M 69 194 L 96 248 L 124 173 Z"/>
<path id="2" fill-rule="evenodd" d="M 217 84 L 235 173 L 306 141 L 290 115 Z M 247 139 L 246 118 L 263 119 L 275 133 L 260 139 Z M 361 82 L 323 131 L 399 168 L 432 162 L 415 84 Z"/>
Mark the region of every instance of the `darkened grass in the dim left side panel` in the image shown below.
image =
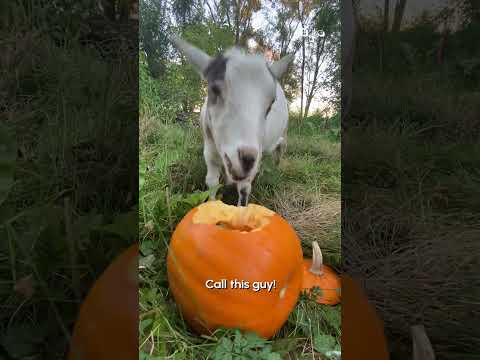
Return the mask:
<path id="1" fill-rule="evenodd" d="M 63 33 L 47 5 L 2 8 L 2 359 L 64 359 L 94 280 L 138 237 L 138 65 Z"/>

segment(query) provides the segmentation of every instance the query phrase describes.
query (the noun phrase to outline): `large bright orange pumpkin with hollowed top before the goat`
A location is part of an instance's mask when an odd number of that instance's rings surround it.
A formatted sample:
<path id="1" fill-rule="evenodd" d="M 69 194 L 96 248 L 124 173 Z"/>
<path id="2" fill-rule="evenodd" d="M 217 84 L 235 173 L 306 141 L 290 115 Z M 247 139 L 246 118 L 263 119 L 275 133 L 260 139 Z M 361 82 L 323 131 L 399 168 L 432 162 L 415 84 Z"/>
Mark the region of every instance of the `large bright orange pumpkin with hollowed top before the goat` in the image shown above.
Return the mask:
<path id="1" fill-rule="evenodd" d="M 195 332 L 236 328 L 270 338 L 300 295 L 302 257 L 297 234 L 277 213 L 256 204 L 209 201 L 177 225 L 167 274 L 171 293 Z M 233 287 L 234 281 L 239 286 Z M 271 290 L 255 291 L 261 283 Z"/>

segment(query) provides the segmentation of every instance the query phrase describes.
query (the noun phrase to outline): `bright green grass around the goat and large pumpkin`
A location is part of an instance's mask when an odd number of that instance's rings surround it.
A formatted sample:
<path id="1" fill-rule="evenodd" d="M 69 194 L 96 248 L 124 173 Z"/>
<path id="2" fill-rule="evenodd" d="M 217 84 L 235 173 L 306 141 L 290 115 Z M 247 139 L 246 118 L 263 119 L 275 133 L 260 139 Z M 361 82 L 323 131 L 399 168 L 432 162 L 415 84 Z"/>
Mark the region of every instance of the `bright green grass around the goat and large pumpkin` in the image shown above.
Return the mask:
<path id="1" fill-rule="evenodd" d="M 318 117 L 289 129 L 280 167 L 264 158 L 251 201 L 283 215 L 297 230 L 305 256 L 316 240 L 325 261 L 340 266 L 339 139 L 323 130 Z M 313 130 L 313 131 L 312 131 Z M 323 358 L 340 343 L 340 306 L 316 304 L 302 296 L 288 322 L 271 341 L 234 329 L 198 336 L 184 323 L 169 292 L 166 255 L 172 231 L 183 215 L 206 199 L 201 132 L 195 122 L 165 125 L 141 119 L 140 348 L 144 359 L 307 359 Z M 235 191 L 220 189 L 227 203 Z M 166 204 L 169 204 L 166 206 Z M 236 355 L 235 355 L 236 354 Z"/>

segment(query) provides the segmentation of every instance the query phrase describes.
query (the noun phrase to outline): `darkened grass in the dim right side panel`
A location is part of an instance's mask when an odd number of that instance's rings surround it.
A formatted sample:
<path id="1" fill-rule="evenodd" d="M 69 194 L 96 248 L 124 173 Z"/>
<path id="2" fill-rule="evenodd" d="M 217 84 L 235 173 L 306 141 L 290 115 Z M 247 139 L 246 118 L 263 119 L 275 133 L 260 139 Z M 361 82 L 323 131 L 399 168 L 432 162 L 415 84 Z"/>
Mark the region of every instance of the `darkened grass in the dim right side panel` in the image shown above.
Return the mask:
<path id="1" fill-rule="evenodd" d="M 352 119 L 362 121 L 342 142 L 344 270 L 366 280 L 392 359 L 411 356 L 417 323 L 437 359 L 476 359 L 478 92 L 435 71 L 398 81 L 356 76 Z"/>

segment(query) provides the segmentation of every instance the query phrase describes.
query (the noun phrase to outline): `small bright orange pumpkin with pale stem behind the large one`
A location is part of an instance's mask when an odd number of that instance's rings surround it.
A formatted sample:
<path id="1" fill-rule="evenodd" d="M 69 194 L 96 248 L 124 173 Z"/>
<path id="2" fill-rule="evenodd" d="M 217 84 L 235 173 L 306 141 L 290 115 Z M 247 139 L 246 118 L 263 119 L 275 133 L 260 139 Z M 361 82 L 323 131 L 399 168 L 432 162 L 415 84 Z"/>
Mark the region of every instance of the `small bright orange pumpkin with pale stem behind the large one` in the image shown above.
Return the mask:
<path id="1" fill-rule="evenodd" d="M 337 273 L 323 264 L 322 251 L 318 243 L 312 243 L 312 259 L 303 260 L 302 289 L 309 293 L 314 288 L 320 288 L 317 296 L 319 304 L 336 305 L 340 302 L 341 282 Z"/>

